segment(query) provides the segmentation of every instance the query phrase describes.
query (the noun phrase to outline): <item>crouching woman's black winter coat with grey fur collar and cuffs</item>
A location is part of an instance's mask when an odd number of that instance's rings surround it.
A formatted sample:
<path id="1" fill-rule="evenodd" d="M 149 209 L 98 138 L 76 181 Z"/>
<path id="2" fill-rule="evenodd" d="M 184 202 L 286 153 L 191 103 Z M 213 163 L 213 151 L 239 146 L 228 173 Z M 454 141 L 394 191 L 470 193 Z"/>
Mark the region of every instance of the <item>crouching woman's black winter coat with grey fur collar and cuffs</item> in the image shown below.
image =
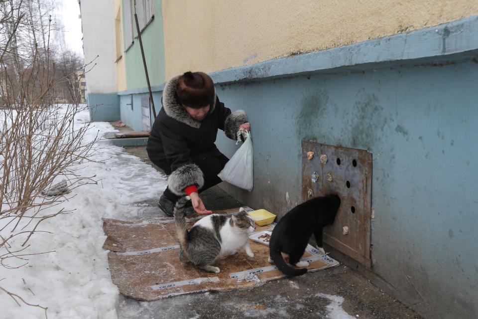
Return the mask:
<path id="1" fill-rule="evenodd" d="M 247 122 L 247 117 L 242 110 L 231 113 L 216 96 L 207 116 L 201 122 L 195 120 L 179 103 L 177 79 L 172 78 L 164 87 L 163 107 L 149 133 L 146 150 L 151 161 L 171 174 L 168 178 L 171 191 L 182 195 L 186 186 L 202 187 L 202 172 L 194 161 L 218 152 L 215 145 L 218 129 L 236 140 L 236 132 Z"/>

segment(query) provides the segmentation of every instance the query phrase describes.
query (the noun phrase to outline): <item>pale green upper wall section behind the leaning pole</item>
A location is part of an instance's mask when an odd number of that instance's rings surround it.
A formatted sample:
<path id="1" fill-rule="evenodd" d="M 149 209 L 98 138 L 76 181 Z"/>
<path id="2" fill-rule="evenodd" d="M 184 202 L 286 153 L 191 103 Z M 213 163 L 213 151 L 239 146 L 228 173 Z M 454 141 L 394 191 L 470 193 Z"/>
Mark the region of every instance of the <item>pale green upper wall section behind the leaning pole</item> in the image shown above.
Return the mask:
<path id="1" fill-rule="evenodd" d="M 148 66 L 149 81 L 151 85 L 161 84 L 164 79 L 164 36 L 162 1 L 154 1 L 154 19 L 141 33 L 144 56 Z M 134 14 L 134 10 L 131 10 Z M 136 25 L 134 16 L 131 16 L 133 23 L 133 34 L 136 37 Z M 124 21 L 125 19 L 123 19 Z M 139 48 L 139 41 L 134 38 L 134 43 L 123 53 L 126 63 L 126 85 L 128 90 L 145 88 L 146 77 Z"/>

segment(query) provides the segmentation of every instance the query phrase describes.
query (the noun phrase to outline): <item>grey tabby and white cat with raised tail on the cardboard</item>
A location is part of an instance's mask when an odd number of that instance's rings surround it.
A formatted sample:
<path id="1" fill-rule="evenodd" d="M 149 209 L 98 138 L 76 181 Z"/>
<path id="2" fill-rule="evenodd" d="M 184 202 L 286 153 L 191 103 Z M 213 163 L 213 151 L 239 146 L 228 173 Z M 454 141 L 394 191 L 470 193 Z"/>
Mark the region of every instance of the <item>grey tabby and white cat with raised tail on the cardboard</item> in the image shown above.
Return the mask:
<path id="1" fill-rule="evenodd" d="M 208 272 L 219 273 L 221 270 L 218 267 L 211 266 L 218 257 L 234 255 L 240 248 L 249 257 L 254 257 L 248 236 L 255 226 L 245 211 L 231 217 L 221 214 L 205 216 L 188 231 L 184 217 L 186 203 L 187 200 L 183 197 L 174 207 L 179 258 L 182 262 L 191 262 Z"/>

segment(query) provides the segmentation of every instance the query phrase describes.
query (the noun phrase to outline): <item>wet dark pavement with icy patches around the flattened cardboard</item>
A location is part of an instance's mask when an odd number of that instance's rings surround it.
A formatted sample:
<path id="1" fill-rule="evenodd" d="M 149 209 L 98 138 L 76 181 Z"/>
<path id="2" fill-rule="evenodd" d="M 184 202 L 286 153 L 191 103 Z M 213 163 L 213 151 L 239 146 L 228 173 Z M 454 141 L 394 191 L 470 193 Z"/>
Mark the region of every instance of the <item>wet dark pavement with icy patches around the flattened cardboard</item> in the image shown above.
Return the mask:
<path id="1" fill-rule="evenodd" d="M 144 147 L 125 149 L 154 166 L 148 160 Z M 241 205 L 218 186 L 202 193 L 202 198 L 206 207 L 212 210 Z M 158 198 L 151 198 L 138 203 L 142 210 L 137 218 L 163 216 L 157 207 L 157 200 Z M 154 302 L 139 302 L 122 297 L 117 311 L 120 319 L 422 318 L 344 265 L 292 279 L 264 283 L 250 290 L 198 293 Z"/>

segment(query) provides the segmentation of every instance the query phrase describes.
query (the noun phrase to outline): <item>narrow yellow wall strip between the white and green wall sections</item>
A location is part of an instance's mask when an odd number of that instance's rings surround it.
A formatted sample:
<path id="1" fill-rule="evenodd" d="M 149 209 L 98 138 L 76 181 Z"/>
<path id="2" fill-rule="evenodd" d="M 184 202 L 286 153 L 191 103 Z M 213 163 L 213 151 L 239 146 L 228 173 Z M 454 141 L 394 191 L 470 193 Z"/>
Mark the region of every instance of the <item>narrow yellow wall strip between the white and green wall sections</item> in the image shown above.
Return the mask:
<path id="1" fill-rule="evenodd" d="M 117 74 L 117 90 L 126 90 L 126 64 L 124 62 L 124 41 L 123 41 L 123 27 L 122 27 L 122 9 L 121 0 L 114 2 L 115 12 L 115 41 L 116 41 L 116 74 Z"/>

